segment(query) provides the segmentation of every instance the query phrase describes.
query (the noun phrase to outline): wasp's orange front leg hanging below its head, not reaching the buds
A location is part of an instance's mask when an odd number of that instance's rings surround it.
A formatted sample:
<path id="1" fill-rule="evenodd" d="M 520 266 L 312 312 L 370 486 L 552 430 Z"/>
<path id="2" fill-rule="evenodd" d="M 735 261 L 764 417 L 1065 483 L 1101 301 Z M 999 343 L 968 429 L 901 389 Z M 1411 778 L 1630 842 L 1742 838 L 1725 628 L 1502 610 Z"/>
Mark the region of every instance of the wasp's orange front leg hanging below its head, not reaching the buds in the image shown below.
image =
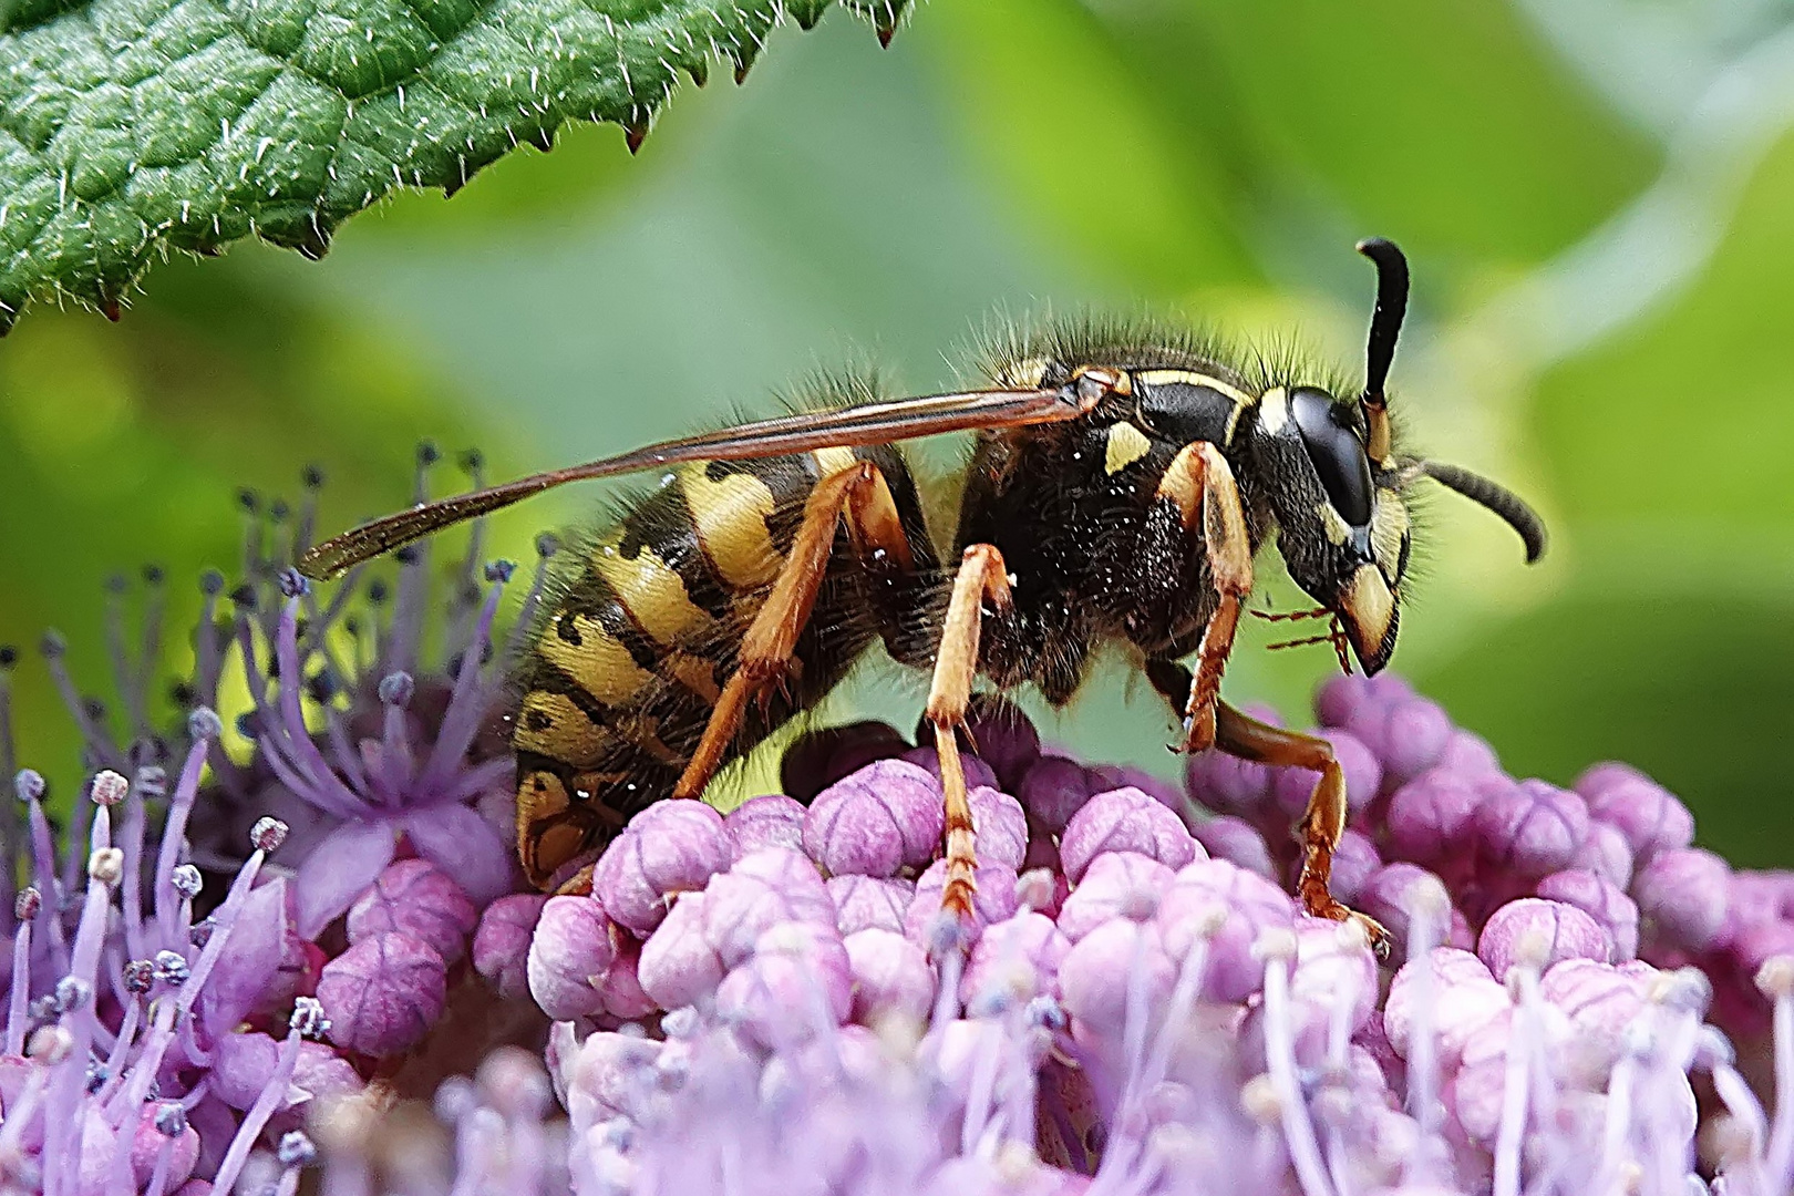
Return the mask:
<path id="1" fill-rule="evenodd" d="M 1184 698 L 1184 751 L 1215 746 L 1215 705 L 1222 671 L 1232 653 L 1240 610 L 1252 594 L 1252 542 L 1245 531 L 1240 488 L 1222 450 L 1207 441 L 1184 445 L 1159 479 L 1159 497 L 1177 506 L 1184 531 L 1202 529 L 1202 549 L 1215 583 L 1215 613 L 1202 631 L 1197 669 Z M 1175 698 L 1171 699 L 1177 701 Z"/>

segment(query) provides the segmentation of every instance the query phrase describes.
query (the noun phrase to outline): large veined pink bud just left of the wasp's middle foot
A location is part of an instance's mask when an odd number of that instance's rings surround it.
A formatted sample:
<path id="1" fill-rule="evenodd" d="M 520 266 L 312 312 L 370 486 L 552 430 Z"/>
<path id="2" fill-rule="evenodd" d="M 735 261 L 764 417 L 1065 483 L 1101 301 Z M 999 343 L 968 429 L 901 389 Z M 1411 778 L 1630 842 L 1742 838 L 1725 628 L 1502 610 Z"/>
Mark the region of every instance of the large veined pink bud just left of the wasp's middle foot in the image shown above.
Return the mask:
<path id="1" fill-rule="evenodd" d="M 816 794 L 804 850 L 832 875 L 892 877 L 933 859 L 942 818 L 933 776 L 906 760 L 879 760 Z"/>

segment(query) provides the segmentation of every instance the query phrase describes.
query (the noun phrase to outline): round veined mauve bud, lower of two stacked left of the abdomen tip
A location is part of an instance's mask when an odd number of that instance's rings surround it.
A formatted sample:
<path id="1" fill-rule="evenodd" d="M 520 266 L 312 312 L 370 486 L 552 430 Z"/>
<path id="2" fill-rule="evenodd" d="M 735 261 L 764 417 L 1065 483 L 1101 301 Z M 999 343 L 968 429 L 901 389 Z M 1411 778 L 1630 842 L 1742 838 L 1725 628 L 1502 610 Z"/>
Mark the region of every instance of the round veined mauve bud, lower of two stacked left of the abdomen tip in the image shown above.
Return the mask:
<path id="1" fill-rule="evenodd" d="M 409 1051 L 441 1017 L 447 999 L 443 958 L 404 931 L 361 940 L 318 977 L 330 1042 L 361 1054 Z"/>

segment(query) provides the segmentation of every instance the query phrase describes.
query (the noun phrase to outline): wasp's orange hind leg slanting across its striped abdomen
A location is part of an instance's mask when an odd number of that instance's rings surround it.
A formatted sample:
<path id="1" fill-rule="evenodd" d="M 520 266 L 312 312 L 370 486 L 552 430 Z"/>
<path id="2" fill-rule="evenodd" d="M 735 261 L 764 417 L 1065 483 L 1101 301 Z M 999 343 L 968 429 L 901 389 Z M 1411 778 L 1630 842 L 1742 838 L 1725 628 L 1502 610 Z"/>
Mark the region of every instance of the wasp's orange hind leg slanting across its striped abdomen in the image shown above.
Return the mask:
<path id="1" fill-rule="evenodd" d="M 741 638 L 741 663 L 710 708 L 703 739 L 680 775 L 678 785 L 673 787 L 675 798 L 696 798 L 703 793 L 710 776 L 728 758 L 748 701 L 784 678 L 797 640 L 816 606 L 822 579 L 829 572 L 834 529 L 843 515 L 854 549 L 868 567 L 875 561 L 879 568 L 901 572 L 911 568 L 910 542 L 904 538 L 897 502 L 879 466 L 858 461 L 816 482 L 804 502 L 804 520 L 798 524 L 784 568 L 779 570 L 771 594 Z"/>

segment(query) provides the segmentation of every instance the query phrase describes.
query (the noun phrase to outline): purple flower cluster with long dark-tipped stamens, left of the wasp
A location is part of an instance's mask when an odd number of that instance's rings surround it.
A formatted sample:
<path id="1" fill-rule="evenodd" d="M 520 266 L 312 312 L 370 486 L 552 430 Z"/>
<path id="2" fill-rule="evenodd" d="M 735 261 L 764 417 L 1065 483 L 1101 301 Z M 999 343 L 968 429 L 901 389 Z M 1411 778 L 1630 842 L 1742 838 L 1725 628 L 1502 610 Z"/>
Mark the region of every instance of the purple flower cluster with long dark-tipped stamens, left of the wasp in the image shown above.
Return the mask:
<path id="1" fill-rule="evenodd" d="M 318 1108 L 371 1078 L 382 1099 L 432 1087 L 545 1026 L 533 1010 L 479 1018 L 492 997 L 470 961 L 481 911 L 520 884 L 513 766 L 492 733 L 509 567 L 477 583 L 475 542 L 443 608 L 414 552 L 396 586 L 355 579 L 321 604 L 278 567 L 309 536 L 310 507 L 246 507 L 246 581 L 228 617 L 222 577 L 201 583 L 196 669 L 176 687 L 183 726 L 158 728 L 149 699 L 160 574 L 147 574 L 135 658 L 118 602 L 108 629 L 122 719 L 79 696 L 61 640 L 45 640 L 99 771 L 61 836 L 29 769 L 0 819 L 0 1191 L 296 1183 Z M 0 654 L 0 751 L 13 663 Z M 215 708 L 242 710 L 235 735 Z M 14 891 L 22 873 L 32 882 Z M 457 1002 L 474 1013 L 431 1042 Z M 413 1079 L 416 1056 L 429 1065 Z"/>

